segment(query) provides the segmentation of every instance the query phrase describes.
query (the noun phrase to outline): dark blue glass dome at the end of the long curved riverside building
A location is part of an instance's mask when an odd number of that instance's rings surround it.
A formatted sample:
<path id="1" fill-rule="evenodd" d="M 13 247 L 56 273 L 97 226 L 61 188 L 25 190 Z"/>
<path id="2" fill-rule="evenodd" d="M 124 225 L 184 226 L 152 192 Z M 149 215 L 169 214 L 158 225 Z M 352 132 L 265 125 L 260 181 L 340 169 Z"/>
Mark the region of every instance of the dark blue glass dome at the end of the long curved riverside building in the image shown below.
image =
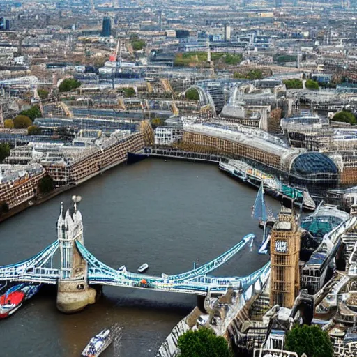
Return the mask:
<path id="1" fill-rule="evenodd" d="M 306 179 L 316 179 L 323 177 L 335 178 L 338 174 L 335 162 L 328 156 L 317 153 L 301 153 L 291 164 L 290 174 L 294 176 L 305 177 Z"/>

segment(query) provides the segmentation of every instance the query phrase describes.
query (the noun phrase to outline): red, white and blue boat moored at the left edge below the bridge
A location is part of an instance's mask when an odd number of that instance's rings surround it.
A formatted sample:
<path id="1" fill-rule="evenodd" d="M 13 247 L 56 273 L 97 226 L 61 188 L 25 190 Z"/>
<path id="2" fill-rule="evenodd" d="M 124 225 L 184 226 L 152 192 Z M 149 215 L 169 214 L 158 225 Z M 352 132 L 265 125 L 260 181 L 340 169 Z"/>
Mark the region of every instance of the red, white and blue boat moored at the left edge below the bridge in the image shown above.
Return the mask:
<path id="1" fill-rule="evenodd" d="M 41 285 L 17 284 L 11 287 L 6 285 L 2 288 L 3 294 L 0 296 L 0 319 L 10 317 L 22 307 L 22 304 L 32 298 Z"/>

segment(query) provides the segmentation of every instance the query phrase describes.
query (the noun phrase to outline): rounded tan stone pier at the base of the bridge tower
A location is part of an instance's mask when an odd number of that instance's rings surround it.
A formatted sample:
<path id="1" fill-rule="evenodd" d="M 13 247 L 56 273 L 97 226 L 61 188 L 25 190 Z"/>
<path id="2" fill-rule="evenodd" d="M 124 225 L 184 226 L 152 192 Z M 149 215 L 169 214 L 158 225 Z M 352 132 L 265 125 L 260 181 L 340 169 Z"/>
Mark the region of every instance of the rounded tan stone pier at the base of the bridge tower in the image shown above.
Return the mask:
<path id="1" fill-rule="evenodd" d="M 57 289 L 57 309 L 65 314 L 79 312 L 96 302 L 97 291 L 83 280 L 60 280 Z"/>

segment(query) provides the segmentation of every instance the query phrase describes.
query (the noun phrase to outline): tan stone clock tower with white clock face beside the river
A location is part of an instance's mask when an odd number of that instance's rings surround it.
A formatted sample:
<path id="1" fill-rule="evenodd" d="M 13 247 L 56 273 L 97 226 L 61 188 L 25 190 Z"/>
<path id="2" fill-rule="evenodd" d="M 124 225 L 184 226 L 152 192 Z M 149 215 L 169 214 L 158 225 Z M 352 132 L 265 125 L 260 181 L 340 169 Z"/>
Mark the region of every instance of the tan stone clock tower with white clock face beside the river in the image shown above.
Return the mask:
<path id="1" fill-rule="evenodd" d="M 298 260 L 301 229 L 294 208 L 282 206 L 271 230 L 271 306 L 293 307 L 300 289 Z"/>

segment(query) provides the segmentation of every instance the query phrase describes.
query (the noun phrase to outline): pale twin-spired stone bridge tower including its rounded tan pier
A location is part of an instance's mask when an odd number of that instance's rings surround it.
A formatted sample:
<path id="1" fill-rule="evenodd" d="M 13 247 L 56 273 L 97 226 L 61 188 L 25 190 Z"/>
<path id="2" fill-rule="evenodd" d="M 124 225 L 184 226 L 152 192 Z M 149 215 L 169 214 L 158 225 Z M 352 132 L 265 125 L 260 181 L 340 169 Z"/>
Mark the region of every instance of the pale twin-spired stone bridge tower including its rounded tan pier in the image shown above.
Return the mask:
<path id="1" fill-rule="evenodd" d="M 96 301 L 96 290 L 87 282 L 88 266 L 79 254 L 75 241 L 84 244 L 82 214 L 77 209 L 80 197 L 73 196 L 73 207 L 61 213 L 57 221 L 57 236 L 61 252 L 61 270 L 57 289 L 57 308 L 71 313 Z"/>

